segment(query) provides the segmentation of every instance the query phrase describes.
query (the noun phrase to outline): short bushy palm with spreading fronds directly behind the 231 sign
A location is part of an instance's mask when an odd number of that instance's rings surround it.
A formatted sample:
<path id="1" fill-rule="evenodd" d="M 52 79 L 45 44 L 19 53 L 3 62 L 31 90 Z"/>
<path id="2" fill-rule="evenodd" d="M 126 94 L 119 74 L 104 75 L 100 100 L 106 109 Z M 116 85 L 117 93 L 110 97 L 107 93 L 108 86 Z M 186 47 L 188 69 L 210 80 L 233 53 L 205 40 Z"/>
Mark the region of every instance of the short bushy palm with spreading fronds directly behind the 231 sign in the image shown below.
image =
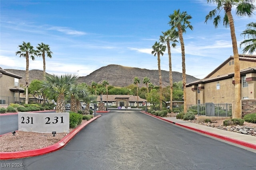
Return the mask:
<path id="1" fill-rule="evenodd" d="M 49 94 L 57 97 L 56 113 L 65 112 L 65 97 L 70 94 L 70 86 L 76 84 L 78 76 L 75 74 L 47 75 L 40 90 L 48 90 Z"/>

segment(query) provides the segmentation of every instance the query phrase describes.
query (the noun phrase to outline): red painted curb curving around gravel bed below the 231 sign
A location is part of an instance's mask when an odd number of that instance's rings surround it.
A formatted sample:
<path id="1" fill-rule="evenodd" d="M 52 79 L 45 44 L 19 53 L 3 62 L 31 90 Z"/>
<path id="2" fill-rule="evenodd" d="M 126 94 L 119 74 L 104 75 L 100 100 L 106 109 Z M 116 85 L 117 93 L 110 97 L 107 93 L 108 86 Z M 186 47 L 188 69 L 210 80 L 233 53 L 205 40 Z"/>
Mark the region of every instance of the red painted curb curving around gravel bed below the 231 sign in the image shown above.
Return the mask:
<path id="1" fill-rule="evenodd" d="M 7 160 L 7 159 L 18 159 L 18 158 L 26 158 L 31 156 L 38 156 L 42 154 L 47 154 L 50 152 L 54 152 L 63 148 L 79 131 L 81 131 L 86 125 L 91 123 L 92 121 L 98 119 L 101 115 L 98 115 L 89 121 L 84 122 L 82 125 L 78 126 L 76 129 L 71 131 L 68 135 L 62 138 L 58 143 L 54 145 L 50 145 L 45 148 L 41 149 L 34 149 L 34 150 L 24 150 L 18 152 L 0 152 L 0 160 Z"/>

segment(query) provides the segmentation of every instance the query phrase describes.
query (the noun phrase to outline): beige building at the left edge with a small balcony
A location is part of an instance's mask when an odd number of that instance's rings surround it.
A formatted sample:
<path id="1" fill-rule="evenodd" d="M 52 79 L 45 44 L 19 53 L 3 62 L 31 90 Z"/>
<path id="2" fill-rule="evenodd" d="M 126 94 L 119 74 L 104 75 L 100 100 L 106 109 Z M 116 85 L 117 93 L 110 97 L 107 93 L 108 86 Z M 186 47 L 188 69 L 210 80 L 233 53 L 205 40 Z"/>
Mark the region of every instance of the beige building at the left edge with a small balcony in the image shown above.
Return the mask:
<path id="1" fill-rule="evenodd" d="M 20 102 L 20 93 L 24 93 L 24 88 L 19 86 L 21 78 L 0 67 L 0 107 Z"/>

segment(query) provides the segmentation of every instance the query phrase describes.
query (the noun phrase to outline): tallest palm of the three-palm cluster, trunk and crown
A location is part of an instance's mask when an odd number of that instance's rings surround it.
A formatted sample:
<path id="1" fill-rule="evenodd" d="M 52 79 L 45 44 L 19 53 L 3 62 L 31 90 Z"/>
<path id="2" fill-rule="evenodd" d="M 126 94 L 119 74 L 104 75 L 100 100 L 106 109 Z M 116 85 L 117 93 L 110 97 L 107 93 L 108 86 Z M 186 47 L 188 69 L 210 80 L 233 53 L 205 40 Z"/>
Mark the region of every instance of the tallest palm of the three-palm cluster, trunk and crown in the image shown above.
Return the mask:
<path id="1" fill-rule="evenodd" d="M 193 26 L 190 25 L 190 19 L 192 18 L 187 12 L 180 12 L 180 10 L 174 10 L 174 13 L 169 15 L 170 26 L 172 30 L 178 29 L 178 35 L 180 39 L 181 46 L 181 56 L 182 56 L 182 84 L 183 84 L 183 98 L 184 98 L 184 113 L 187 112 L 186 104 L 186 65 L 185 65 L 185 46 L 183 33 L 186 33 L 186 29 L 189 28 L 193 30 Z"/>

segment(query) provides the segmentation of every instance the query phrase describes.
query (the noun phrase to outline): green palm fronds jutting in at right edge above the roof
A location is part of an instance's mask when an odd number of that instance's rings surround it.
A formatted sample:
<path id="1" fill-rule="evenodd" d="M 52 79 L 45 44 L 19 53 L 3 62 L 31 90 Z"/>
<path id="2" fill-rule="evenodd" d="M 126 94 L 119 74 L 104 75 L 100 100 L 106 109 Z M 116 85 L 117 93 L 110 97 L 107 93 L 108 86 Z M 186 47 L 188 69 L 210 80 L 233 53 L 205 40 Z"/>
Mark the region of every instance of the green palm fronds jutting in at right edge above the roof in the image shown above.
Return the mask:
<path id="1" fill-rule="evenodd" d="M 243 53 L 249 53 L 253 54 L 256 51 L 256 22 L 251 22 L 247 24 L 247 29 L 241 33 L 241 35 L 244 35 L 244 38 L 246 35 L 249 39 L 246 39 L 240 43 L 240 48 L 242 45 L 246 45 L 243 49 Z"/>

